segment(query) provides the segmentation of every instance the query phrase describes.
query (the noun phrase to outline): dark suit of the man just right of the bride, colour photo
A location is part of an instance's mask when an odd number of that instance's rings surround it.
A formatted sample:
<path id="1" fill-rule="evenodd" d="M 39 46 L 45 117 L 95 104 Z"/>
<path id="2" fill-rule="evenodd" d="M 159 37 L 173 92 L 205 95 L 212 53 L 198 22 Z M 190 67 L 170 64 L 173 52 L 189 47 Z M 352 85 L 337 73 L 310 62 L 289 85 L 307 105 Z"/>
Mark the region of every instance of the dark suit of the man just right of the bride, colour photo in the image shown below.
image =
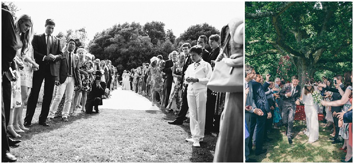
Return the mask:
<path id="1" fill-rule="evenodd" d="M 344 88 L 343 83 L 341 83 L 339 86 L 342 88 L 342 90 L 345 91 L 345 88 Z M 331 100 L 331 101 L 336 101 L 336 100 L 342 99 L 342 96 L 339 94 L 338 89 L 336 89 L 336 88 L 331 88 L 331 87 L 328 87 L 328 86 L 327 86 L 327 87 L 325 88 L 325 90 L 333 92 L 332 100 Z M 333 113 L 333 112 L 336 112 L 336 113 L 341 112 L 342 109 L 343 109 L 343 106 L 331 107 L 332 113 Z M 330 114 L 330 113 L 328 113 L 328 114 Z M 335 134 L 334 138 L 338 138 L 338 137 L 339 137 L 339 130 L 340 130 L 340 127 L 338 126 L 338 118 L 337 118 L 337 117 L 333 117 L 333 122 L 334 122 L 335 129 L 336 129 L 336 134 Z"/>

